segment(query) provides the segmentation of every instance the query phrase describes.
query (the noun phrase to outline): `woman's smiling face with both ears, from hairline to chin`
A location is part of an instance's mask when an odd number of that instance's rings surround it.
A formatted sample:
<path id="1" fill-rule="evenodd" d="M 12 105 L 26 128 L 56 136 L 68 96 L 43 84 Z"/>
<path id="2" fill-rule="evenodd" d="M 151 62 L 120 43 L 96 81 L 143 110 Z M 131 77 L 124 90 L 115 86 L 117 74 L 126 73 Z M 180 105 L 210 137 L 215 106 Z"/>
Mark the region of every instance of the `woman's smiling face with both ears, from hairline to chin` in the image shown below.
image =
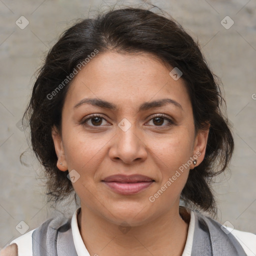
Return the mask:
<path id="1" fill-rule="evenodd" d="M 182 76 L 175 80 L 170 71 L 146 53 L 108 52 L 74 77 L 62 134 L 53 130 L 52 137 L 57 166 L 72 171 L 81 207 L 130 225 L 177 211 L 191 157 L 202 161 L 208 133 L 195 134 Z M 148 180 L 127 180 L 132 174 Z"/>

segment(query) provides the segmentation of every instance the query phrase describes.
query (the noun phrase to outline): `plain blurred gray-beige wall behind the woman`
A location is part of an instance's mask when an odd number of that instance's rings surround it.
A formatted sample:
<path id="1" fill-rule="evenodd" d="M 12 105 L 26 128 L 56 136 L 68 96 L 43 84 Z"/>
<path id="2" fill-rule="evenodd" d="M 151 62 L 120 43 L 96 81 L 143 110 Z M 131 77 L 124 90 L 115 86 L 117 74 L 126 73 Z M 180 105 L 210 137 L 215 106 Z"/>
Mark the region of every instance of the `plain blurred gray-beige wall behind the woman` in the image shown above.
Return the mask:
<path id="1" fill-rule="evenodd" d="M 147 6 L 144 2 L 118 1 L 117 6 Z M 221 223 L 229 221 L 235 229 L 256 233 L 256 1 L 150 2 L 171 14 L 194 39 L 198 38 L 210 67 L 222 80 L 235 152 L 230 171 L 214 185 L 217 219 Z M 15 228 L 20 221 L 31 230 L 56 214 L 46 205 L 44 179 L 38 178 L 40 166 L 33 154 L 25 153 L 27 166 L 19 162 L 20 153 L 28 147 L 19 120 L 35 81 L 34 72 L 65 28 L 77 18 L 93 17 L 98 9 L 114 3 L 0 0 L 0 247 L 20 235 Z M 21 23 L 20 16 L 29 22 L 23 29 L 15 23 Z M 63 211 L 63 207 L 58 206 L 58 210 Z M 65 213 L 74 209 L 71 204 Z"/>

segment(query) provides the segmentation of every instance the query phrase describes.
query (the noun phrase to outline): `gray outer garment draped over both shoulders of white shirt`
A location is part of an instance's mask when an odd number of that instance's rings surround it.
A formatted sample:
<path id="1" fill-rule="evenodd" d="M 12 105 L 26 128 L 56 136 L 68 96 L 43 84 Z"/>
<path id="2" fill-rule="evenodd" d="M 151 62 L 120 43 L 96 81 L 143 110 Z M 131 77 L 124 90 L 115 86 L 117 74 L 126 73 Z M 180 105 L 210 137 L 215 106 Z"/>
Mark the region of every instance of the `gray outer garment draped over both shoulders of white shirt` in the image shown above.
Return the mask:
<path id="1" fill-rule="evenodd" d="M 194 212 L 191 256 L 246 256 L 237 239 L 217 221 Z M 32 233 L 33 256 L 77 256 L 71 218 L 48 219 Z"/>

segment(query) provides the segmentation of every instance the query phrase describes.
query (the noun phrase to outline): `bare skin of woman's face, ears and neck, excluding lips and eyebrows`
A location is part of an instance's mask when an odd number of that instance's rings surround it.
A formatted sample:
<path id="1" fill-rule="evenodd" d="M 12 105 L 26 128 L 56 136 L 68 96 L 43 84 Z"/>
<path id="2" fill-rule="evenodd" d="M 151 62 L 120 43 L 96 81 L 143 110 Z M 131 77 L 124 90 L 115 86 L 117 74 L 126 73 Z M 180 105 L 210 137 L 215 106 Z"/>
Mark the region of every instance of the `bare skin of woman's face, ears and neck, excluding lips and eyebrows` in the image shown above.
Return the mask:
<path id="1" fill-rule="evenodd" d="M 188 223 L 179 215 L 179 198 L 194 164 L 190 161 L 154 202 L 148 198 L 196 152 L 196 165 L 203 160 L 208 130 L 195 134 L 184 81 L 174 80 L 171 69 L 147 53 L 107 52 L 90 60 L 69 87 L 61 134 L 53 128 L 52 138 L 59 170 L 80 175 L 73 183 L 81 202 L 78 226 L 91 255 L 182 254 Z M 88 103 L 74 108 L 83 98 L 100 98 L 116 109 Z M 181 107 L 167 103 L 138 111 L 140 104 L 163 98 Z M 95 119 L 81 124 L 91 114 L 105 118 L 99 119 L 101 126 Z M 171 125 L 161 116 L 154 119 L 161 114 Z M 131 125 L 126 131 L 118 127 L 123 118 Z M 121 195 L 101 181 L 113 174 L 143 174 L 155 182 L 137 194 Z M 124 221 L 130 228 L 126 233 L 119 228 Z"/>

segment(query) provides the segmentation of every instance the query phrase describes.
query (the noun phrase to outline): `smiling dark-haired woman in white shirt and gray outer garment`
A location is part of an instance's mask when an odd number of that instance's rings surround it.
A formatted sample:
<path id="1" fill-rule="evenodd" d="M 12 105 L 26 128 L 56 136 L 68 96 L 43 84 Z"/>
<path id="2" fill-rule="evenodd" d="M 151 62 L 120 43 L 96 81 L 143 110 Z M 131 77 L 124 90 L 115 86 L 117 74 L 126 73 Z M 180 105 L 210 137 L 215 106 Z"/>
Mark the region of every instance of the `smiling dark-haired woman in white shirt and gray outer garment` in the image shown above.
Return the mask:
<path id="1" fill-rule="evenodd" d="M 233 151 L 222 99 L 171 17 L 130 7 L 67 29 L 25 116 L 49 199 L 74 191 L 80 207 L 2 255 L 254 255 L 255 234 L 200 213 L 216 213 L 211 177 Z"/>

